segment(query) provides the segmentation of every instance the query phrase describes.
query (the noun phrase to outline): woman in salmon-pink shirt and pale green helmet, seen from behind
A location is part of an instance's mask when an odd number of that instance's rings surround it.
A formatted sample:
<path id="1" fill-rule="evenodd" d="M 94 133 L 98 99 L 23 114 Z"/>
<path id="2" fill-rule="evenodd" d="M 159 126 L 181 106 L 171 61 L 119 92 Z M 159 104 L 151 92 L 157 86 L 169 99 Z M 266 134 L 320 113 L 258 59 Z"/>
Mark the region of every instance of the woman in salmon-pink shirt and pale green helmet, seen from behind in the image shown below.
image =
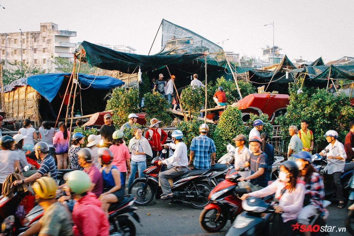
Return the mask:
<path id="1" fill-rule="evenodd" d="M 109 150 L 113 153 L 112 165 L 118 167 L 120 172 L 121 186 L 122 189 L 125 189 L 125 178 L 127 174 L 130 174 L 130 154 L 128 147 L 124 144 L 123 136 L 123 131 L 114 131 L 112 134 L 113 145 L 109 147 Z"/>

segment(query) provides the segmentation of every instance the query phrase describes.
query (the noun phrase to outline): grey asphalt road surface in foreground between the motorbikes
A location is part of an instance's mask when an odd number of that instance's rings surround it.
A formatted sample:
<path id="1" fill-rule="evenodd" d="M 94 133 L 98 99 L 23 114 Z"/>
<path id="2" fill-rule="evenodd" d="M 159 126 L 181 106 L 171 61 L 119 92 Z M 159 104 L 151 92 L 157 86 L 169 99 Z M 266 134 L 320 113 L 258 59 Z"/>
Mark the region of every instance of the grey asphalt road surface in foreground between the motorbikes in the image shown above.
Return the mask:
<path id="1" fill-rule="evenodd" d="M 143 227 L 136 221 L 139 236 L 223 236 L 230 223 L 219 233 L 207 233 L 199 225 L 201 210 L 192 208 L 187 203 L 171 203 L 171 201 L 153 200 L 148 206 L 138 207 L 137 213 Z M 345 209 L 338 209 L 335 204 L 329 206 L 330 216 L 328 226 L 336 226 L 332 236 L 346 236 L 347 232 L 336 232 L 338 227 L 344 227 Z"/>

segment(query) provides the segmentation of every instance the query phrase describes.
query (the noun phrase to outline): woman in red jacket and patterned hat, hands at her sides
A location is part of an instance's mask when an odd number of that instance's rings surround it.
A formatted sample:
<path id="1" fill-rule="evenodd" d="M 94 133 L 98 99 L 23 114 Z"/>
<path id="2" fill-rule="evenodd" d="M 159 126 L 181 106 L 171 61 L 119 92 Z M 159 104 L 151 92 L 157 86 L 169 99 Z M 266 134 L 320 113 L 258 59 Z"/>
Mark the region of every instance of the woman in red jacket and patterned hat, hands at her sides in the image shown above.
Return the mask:
<path id="1" fill-rule="evenodd" d="M 153 158 L 157 156 L 158 152 L 160 156 L 162 155 L 161 145 L 165 144 L 167 139 L 166 132 L 163 129 L 159 128 L 160 122 L 161 121 L 156 118 L 151 119 L 149 129 L 145 134 L 145 138 L 149 140 L 151 149 L 153 151 Z"/>

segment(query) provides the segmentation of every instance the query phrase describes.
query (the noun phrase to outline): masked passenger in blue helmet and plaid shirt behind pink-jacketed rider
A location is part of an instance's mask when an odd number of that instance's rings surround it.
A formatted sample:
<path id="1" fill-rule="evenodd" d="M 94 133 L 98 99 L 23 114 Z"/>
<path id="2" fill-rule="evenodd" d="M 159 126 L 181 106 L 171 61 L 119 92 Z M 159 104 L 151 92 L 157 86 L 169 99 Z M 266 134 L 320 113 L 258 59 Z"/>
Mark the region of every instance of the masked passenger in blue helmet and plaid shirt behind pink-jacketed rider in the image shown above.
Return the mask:
<path id="1" fill-rule="evenodd" d="M 323 200 L 325 198 L 325 187 L 321 175 L 311 165 L 311 154 L 308 151 L 301 151 L 296 155 L 296 165 L 299 167 L 300 179 L 305 182 L 304 207 L 298 215 L 298 223 L 308 225 L 309 218 L 316 215 L 318 211 L 323 212 Z M 306 236 L 311 232 L 304 232 Z"/>

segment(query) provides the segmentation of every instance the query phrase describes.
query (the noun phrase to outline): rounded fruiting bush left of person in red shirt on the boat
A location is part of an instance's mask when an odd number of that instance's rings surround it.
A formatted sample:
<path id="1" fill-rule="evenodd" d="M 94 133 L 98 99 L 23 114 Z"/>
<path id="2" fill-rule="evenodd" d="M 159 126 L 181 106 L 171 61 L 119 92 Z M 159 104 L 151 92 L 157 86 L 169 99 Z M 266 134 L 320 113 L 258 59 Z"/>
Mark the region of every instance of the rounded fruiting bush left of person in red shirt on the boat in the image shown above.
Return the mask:
<path id="1" fill-rule="evenodd" d="M 187 86 L 181 93 L 183 110 L 188 110 L 194 119 L 200 116 L 200 108 L 205 105 L 205 89 L 202 87 L 192 88 Z"/>

